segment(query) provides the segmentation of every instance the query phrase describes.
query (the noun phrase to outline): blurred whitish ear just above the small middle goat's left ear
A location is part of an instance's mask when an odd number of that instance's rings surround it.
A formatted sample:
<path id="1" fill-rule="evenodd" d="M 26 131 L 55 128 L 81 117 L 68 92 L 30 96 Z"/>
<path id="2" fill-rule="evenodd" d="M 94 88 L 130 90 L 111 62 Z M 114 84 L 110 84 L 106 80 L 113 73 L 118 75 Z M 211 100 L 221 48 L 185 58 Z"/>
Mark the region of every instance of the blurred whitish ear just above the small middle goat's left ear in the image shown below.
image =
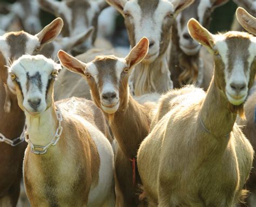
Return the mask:
<path id="1" fill-rule="evenodd" d="M 62 48 L 63 48 L 64 51 L 68 51 L 72 47 L 76 47 L 77 45 L 82 44 L 86 39 L 88 39 L 91 36 L 93 30 L 94 30 L 94 27 L 91 26 L 85 32 L 77 34 L 74 37 L 61 38 L 60 39 L 60 45 L 62 45 Z"/>

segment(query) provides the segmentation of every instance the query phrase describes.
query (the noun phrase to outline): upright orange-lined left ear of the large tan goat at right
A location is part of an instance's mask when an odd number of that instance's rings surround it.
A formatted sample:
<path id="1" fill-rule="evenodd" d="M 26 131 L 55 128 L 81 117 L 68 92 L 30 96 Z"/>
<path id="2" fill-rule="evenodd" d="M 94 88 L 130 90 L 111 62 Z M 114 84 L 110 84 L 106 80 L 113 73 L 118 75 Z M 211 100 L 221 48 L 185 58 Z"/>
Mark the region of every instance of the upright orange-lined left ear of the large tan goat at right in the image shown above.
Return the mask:
<path id="1" fill-rule="evenodd" d="M 197 22 L 196 19 L 191 18 L 187 23 L 188 32 L 190 33 L 191 37 L 198 41 L 200 44 L 207 47 L 207 49 L 210 49 L 212 51 L 214 39 L 213 34 L 208 32 L 206 28 L 200 25 L 199 22 Z"/>

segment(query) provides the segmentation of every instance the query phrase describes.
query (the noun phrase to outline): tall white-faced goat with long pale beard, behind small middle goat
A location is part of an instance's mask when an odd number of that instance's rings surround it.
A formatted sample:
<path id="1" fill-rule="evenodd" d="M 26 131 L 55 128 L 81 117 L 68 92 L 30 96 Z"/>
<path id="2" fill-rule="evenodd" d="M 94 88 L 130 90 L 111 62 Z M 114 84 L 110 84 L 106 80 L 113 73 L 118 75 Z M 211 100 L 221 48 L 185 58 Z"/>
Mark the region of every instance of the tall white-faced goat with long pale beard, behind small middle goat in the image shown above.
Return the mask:
<path id="1" fill-rule="evenodd" d="M 132 47 L 143 36 L 150 41 L 149 54 L 133 70 L 130 78 L 134 95 L 150 92 L 161 94 L 173 87 L 167 63 L 172 25 L 178 13 L 193 1 L 106 0 L 123 15 Z"/>

